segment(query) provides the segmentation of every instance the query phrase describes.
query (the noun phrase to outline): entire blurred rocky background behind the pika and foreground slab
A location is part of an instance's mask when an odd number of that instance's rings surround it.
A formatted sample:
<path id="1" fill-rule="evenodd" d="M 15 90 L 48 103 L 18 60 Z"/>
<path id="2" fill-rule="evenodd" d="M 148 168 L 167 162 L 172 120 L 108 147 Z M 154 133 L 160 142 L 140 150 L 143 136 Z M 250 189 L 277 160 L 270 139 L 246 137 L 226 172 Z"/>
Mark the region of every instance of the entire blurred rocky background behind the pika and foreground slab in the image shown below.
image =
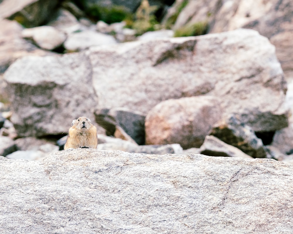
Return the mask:
<path id="1" fill-rule="evenodd" d="M 98 149 L 293 162 L 293 3 L 0 1 L 0 155 Z M 197 37 L 194 37 L 197 36 Z"/>

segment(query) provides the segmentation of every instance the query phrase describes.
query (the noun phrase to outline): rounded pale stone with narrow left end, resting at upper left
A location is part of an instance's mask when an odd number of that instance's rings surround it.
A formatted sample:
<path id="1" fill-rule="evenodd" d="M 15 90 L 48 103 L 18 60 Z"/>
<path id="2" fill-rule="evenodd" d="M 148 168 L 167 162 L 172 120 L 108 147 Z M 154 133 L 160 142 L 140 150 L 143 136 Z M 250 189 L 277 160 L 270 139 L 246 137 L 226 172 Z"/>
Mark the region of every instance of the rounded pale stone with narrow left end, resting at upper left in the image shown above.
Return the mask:
<path id="1" fill-rule="evenodd" d="M 22 31 L 22 37 L 32 39 L 39 47 L 47 50 L 60 47 L 66 40 L 64 32 L 51 26 L 26 28 Z"/>

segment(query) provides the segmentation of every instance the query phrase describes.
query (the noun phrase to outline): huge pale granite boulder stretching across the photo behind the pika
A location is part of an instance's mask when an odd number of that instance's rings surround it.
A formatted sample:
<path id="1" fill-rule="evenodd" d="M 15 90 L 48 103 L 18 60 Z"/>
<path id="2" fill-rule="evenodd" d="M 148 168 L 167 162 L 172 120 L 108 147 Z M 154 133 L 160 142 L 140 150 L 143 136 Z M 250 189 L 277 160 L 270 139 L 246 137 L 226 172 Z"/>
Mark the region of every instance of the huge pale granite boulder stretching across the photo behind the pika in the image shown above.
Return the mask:
<path id="1" fill-rule="evenodd" d="M 93 109 L 147 114 L 161 101 L 198 95 L 215 96 L 223 116 L 237 113 L 253 131 L 288 125 L 286 82 L 275 47 L 253 30 L 25 57 L 4 77 L 19 136 L 66 133 L 66 123 L 81 113 L 91 118 Z"/>

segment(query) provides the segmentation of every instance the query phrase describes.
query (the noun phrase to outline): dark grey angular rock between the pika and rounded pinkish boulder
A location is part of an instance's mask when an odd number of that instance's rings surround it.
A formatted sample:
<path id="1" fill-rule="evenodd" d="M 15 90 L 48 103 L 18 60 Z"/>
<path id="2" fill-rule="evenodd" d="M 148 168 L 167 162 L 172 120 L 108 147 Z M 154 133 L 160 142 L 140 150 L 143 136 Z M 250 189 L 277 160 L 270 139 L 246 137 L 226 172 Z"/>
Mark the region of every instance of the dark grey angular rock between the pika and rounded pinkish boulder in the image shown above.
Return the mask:
<path id="1" fill-rule="evenodd" d="M 145 115 L 127 108 L 102 109 L 95 111 L 96 123 L 106 129 L 107 135 L 114 135 L 120 126 L 137 144 L 144 144 Z"/>

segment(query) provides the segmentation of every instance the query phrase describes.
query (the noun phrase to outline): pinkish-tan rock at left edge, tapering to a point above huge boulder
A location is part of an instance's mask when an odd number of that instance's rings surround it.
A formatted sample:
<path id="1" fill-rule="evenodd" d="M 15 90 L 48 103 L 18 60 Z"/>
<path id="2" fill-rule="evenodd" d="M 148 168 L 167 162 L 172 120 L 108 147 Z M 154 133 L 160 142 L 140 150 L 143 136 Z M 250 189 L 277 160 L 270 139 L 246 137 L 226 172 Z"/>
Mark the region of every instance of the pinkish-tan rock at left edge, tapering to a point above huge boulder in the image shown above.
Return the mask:
<path id="1" fill-rule="evenodd" d="M 49 54 L 49 52 L 42 51 L 21 38 L 23 27 L 19 23 L 0 20 L 0 25 L 0 73 L 3 73 L 11 63 L 23 56 Z"/>

